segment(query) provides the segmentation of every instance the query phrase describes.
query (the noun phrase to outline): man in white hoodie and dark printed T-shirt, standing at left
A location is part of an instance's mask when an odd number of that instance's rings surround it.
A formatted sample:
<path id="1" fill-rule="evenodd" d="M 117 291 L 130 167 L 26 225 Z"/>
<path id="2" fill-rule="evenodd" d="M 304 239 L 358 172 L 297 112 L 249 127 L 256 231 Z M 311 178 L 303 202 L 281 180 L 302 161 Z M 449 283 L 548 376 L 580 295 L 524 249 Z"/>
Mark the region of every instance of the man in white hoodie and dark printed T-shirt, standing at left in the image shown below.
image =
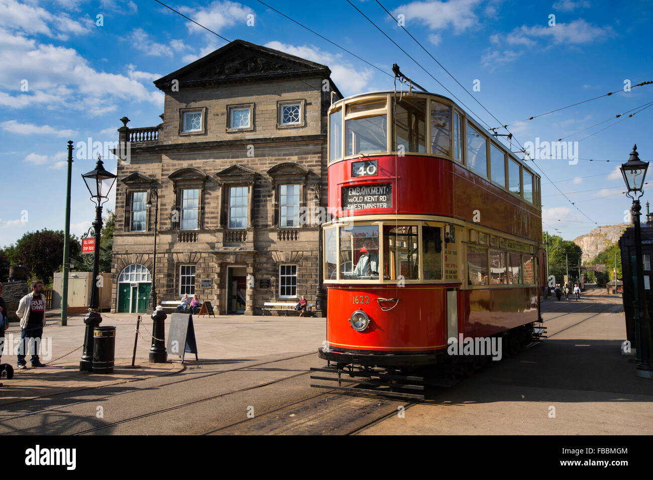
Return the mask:
<path id="1" fill-rule="evenodd" d="M 16 315 L 20 318 L 20 344 L 18 345 L 18 368 L 27 368 L 25 364 L 25 344 L 29 344 L 32 366 L 45 366 L 39 362 L 40 338 L 45 327 L 45 295 L 41 293 L 43 283 L 32 282 L 32 293 L 20 299 Z"/>

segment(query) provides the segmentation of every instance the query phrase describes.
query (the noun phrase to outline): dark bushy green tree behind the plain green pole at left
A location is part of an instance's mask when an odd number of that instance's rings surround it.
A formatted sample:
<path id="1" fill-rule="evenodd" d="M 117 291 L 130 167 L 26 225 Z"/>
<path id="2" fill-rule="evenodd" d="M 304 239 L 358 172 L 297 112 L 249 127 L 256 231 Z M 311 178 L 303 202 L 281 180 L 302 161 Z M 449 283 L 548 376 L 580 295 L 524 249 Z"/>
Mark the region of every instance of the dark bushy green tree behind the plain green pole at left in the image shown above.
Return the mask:
<path id="1" fill-rule="evenodd" d="M 76 257 L 82 250 L 75 236 L 71 236 L 70 248 L 71 257 Z M 30 279 L 50 285 L 54 272 L 59 271 L 63 261 L 63 231 L 44 229 L 27 232 L 16 245 L 10 245 L 5 251 L 10 264 L 26 266 Z"/>

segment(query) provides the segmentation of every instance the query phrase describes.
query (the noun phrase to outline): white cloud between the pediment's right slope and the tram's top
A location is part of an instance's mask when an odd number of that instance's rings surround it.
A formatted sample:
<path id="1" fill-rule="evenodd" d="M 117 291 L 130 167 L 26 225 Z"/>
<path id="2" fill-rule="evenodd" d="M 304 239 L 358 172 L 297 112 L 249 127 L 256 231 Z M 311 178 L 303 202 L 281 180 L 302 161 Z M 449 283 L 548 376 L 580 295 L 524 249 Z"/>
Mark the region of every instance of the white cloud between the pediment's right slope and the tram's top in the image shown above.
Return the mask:
<path id="1" fill-rule="evenodd" d="M 363 91 L 372 79 L 372 69 L 356 69 L 349 63 L 342 63 L 340 56 L 323 52 L 315 46 L 294 46 L 276 40 L 266 43 L 265 46 L 327 65 L 331 69 L 331 78 L 335 84 L 346 85 L 347 91 Z"/>

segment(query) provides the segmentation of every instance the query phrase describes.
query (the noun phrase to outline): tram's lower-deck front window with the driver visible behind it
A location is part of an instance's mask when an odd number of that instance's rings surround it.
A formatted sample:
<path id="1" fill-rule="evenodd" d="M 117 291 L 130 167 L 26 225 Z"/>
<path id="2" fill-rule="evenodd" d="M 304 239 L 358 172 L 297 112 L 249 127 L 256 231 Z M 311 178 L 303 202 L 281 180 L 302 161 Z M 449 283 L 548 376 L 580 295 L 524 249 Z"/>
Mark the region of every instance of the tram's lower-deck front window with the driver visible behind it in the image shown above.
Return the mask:
<path id="1" fill-rule="evenodd" d="M 379 227 L 340 229 L 340 280 L 379 279 Z"/>

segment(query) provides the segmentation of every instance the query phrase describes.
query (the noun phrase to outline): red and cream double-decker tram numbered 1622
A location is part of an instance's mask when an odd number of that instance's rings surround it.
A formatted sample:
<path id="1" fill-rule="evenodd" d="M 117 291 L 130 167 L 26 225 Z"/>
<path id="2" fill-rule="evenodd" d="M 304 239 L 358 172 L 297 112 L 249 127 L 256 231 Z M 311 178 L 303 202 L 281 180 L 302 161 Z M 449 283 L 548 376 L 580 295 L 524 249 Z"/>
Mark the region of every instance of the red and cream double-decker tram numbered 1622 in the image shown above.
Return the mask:
<path id="1" fill-rule="evenodd" d="M 366 93 L 328 115 L 319 356 L 365 370 L 442 362 L 460 335 L 529 343 L 539 176 L 441 95 Z"/>

